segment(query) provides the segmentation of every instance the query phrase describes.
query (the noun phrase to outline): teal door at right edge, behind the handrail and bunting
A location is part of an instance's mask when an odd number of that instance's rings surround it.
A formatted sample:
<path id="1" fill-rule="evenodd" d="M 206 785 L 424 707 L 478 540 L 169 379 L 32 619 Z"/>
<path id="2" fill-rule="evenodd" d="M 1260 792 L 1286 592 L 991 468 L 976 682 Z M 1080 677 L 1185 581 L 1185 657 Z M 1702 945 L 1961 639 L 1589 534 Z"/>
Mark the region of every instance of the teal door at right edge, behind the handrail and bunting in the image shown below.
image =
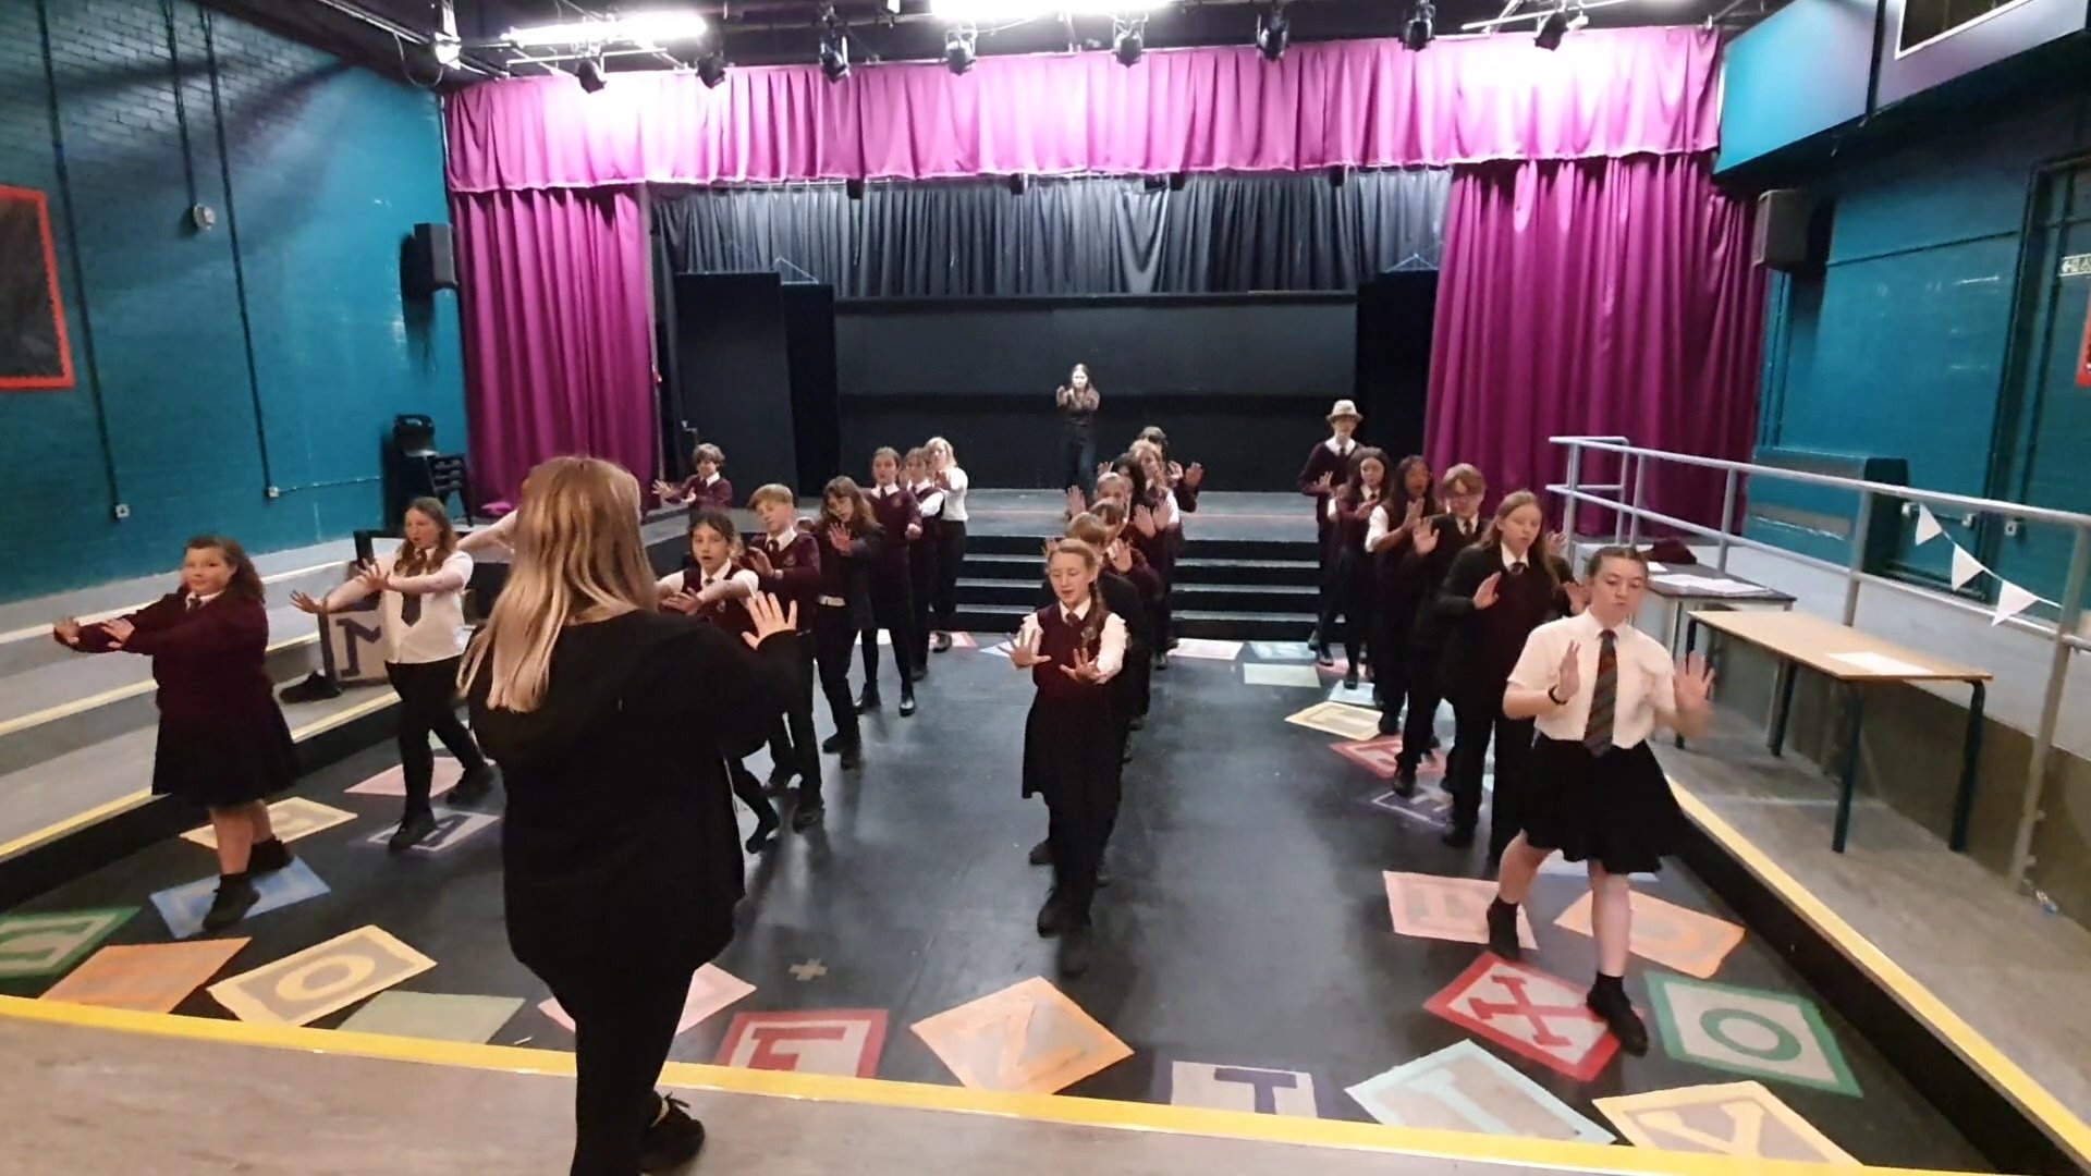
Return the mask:
<path id="1" fill-rule="evenodd" d="M 2091 387 L 2078 383 L 2091 345 L 2091 157 L 2037 180 L 2014 326 L 1991 492 L 2091 513 Z M 2072 540 L 2066 527 L 1986 519 L 1980 557 L 2060 601 Z"/>

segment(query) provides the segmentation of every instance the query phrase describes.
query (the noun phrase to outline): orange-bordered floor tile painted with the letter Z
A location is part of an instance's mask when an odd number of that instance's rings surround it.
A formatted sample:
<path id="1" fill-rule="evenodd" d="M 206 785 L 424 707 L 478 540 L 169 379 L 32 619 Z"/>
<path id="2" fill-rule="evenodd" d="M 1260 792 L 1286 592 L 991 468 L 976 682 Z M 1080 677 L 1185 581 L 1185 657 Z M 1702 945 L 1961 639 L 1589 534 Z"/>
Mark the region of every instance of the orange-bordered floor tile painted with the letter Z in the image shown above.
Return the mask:
<path id="1" fill-rule="evenodd" d="M 1039 977 L 916 1021 L 914 1034 L 974 1090 L 1054 1094 L 1133 1057 Z"/>

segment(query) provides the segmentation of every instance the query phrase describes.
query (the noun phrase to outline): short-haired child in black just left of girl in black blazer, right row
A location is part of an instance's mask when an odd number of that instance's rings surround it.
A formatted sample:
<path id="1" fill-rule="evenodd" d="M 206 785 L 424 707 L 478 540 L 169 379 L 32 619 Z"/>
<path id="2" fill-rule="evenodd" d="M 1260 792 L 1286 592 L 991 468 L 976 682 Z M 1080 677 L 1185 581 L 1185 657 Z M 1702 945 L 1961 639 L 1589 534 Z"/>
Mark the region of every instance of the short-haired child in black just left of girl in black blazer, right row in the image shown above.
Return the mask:
<path id="1" fill-rule="evenodd" d="M 1395 569 L 1397 592 L 1414 601 L 1407 605 L 1416 617 L 1407 640 L 1407 707 L 1401 722 L 1401 751 L 1395 757 L 1395 793 L 1416 795 L 1416 768 L 1437 743 L 1437 711 L 1445 701 L 1441 684 L 1445 659 L 1445 617 L 1432 607 L 1451 561 L 1462 550 L 1480 542 L 1480 500 L 1489 494 L 1489 483 L 1470 465 L 1455 465 L 1445 471 L 1445 513 L 1434 515 L 1409 540 L 1401 565 Z M 1393 734 L 1388 711 L 1380 711 L 1380 732 Z M 1449 787 L 1447 776 L 1447 787 Z"/>

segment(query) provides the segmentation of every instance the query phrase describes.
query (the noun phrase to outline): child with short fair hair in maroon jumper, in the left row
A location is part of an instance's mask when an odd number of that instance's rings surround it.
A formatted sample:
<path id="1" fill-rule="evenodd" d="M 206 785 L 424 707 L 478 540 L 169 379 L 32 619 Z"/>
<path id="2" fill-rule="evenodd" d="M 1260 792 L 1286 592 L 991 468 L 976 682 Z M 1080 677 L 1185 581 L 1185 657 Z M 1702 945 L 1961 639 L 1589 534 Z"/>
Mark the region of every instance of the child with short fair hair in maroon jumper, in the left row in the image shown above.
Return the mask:
<path id="1" fill-rule="evenodd" d="M 769 732 L 769 795 L 780 795 L 799 778 L 799 804 L 792 808 L 792 829 L 803 831 L 820 820 L 824 812 L 820 799 L 820 747 L 813 743 L 813 665 L 818 661 L 818 638 L 813 619 L 820 613 L 822 561 L 820 540 L 811 532 L 799 529 L 797 498 L 788 485 L 769 483 L 749 496 L 749 506 L 761 523 L 763 534 L 746 552 L 749 569 L 763 592 L 776 596 L 784 607 L 795 609 L 799 647 L 799 684 Z M 847 663 L 845 663 L 847 674 Z M 822 691 L 828 682 L 822 678 Z M 849 682 L 843 682 L 843 701 L 849 701 Z M 828 697 L 834 707 L 834 697 Z M 857 711 L 849 714 L 855 728 Z M 841 718 L 841 716 L 838 716 Z M 841 722 L 836 724 L 841 728 Z M 847 766 L 847 764 L 845 764 Z M 801 816 L 807 814 L 807 816 Z"/>

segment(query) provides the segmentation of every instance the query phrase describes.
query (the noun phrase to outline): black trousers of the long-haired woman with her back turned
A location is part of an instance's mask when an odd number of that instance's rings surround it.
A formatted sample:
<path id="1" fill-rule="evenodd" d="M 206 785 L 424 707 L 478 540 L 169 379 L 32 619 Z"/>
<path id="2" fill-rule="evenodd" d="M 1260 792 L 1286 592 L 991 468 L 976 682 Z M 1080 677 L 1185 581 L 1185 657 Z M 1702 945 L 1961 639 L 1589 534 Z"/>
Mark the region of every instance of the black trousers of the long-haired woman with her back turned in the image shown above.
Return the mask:
<path id="1" fill-rule="evenodd" d="M 544 977 L 573 1017 L 573 1176 L 634 1176 L 661 1113 L 654 1082 L 675 1042 L 690 973 L 604 969 Z"/>

